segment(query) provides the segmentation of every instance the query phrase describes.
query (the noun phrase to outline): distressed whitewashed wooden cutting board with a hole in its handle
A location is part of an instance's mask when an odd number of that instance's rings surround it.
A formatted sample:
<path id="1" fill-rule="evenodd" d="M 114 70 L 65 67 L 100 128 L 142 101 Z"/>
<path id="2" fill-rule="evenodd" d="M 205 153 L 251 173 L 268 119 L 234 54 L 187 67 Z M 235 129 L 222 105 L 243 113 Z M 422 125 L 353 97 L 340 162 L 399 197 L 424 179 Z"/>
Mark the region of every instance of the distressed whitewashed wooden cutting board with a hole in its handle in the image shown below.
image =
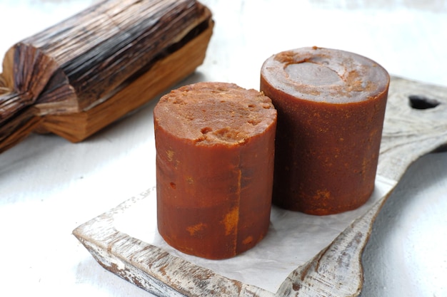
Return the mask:
<path id="1" fill-rule="evenodd" d="M 410 95 L 441 104 L 424 110 L 411 108 Z M 392 78 L 378 175 L 398 182 L 418 157 L 446 144 L 447 88 Z M 363 284 L 361 254 L 390 193 L 306 264 L 291 271 L 277 292 L 226 278 L 117 230 L 114 217 L 126 212 L 134 199 L 73 233 L 105 269 L 158 296 L 358 296 Z"/>

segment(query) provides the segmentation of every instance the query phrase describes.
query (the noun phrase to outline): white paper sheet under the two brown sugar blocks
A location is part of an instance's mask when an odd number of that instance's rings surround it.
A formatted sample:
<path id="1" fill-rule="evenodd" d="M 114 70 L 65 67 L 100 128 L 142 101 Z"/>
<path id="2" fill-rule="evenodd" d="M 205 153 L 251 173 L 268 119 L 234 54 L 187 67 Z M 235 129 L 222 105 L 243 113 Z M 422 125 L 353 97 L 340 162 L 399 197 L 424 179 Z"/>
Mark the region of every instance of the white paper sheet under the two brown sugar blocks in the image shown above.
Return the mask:
<path id="1" fill-rule="evenodd" d="M 181 253 L 166 244 L 156 226 L 155 188 L 146 191 L 132 207 L 116 215 L 114 225 L 118 231 L 157 246 L 192 264 L 275 293 L 291 271 L 331 244 L 338 234 L 388 194 L 395 184 L 396 182 L 386 177 L 376 177 L 376 187 L 368 202 L 356 210 L 342 214 L 318 217 L 273 206 L 266 237 L 253 249 L 231 259 L 201 259 Z"/>

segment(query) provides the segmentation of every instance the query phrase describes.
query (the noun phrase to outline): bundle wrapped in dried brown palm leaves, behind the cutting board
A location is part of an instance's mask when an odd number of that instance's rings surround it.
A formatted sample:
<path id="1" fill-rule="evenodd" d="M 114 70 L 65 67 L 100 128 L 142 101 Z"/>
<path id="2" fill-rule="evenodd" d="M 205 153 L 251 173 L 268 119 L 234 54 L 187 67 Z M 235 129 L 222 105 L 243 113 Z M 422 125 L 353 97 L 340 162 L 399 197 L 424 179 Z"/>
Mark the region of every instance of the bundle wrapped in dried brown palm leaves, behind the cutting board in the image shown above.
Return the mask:
<path id="1" fill-rule="evenodd" d="M 203 63 L 211 11 L 194 0 L 106 0 L 16 43 L 0 74 L 0 152 L 31 132 L 79 142 Z"/>

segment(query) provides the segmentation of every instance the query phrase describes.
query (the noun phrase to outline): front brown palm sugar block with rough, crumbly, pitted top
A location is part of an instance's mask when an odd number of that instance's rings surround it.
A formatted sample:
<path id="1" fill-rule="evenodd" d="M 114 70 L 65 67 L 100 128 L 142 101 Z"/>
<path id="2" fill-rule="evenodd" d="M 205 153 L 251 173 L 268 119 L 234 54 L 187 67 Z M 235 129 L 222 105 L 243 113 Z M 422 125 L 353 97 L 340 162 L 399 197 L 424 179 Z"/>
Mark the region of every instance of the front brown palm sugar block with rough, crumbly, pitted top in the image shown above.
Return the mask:
<path id="1" fill-rule="evenodd" d="M 154 109 L 159 233 L 186 254 L 226 259 L 270 222 L 276 110 L 257 90 L 196 83 Z"/>

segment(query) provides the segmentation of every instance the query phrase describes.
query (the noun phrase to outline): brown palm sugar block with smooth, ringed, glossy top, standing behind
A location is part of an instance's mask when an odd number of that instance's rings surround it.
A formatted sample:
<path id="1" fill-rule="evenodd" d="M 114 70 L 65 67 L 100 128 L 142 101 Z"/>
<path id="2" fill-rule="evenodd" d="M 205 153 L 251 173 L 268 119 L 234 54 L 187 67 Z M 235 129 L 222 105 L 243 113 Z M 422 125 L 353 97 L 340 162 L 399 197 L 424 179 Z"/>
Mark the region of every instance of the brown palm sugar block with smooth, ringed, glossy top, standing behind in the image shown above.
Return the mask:
<path id="1" fill-rule="evenodd" d="M 273 203 L 308 214 L 356 209 L 374 189 L 389 75 L 329 48 L 268 58 L 261 91 L 278 110 Z"/>

